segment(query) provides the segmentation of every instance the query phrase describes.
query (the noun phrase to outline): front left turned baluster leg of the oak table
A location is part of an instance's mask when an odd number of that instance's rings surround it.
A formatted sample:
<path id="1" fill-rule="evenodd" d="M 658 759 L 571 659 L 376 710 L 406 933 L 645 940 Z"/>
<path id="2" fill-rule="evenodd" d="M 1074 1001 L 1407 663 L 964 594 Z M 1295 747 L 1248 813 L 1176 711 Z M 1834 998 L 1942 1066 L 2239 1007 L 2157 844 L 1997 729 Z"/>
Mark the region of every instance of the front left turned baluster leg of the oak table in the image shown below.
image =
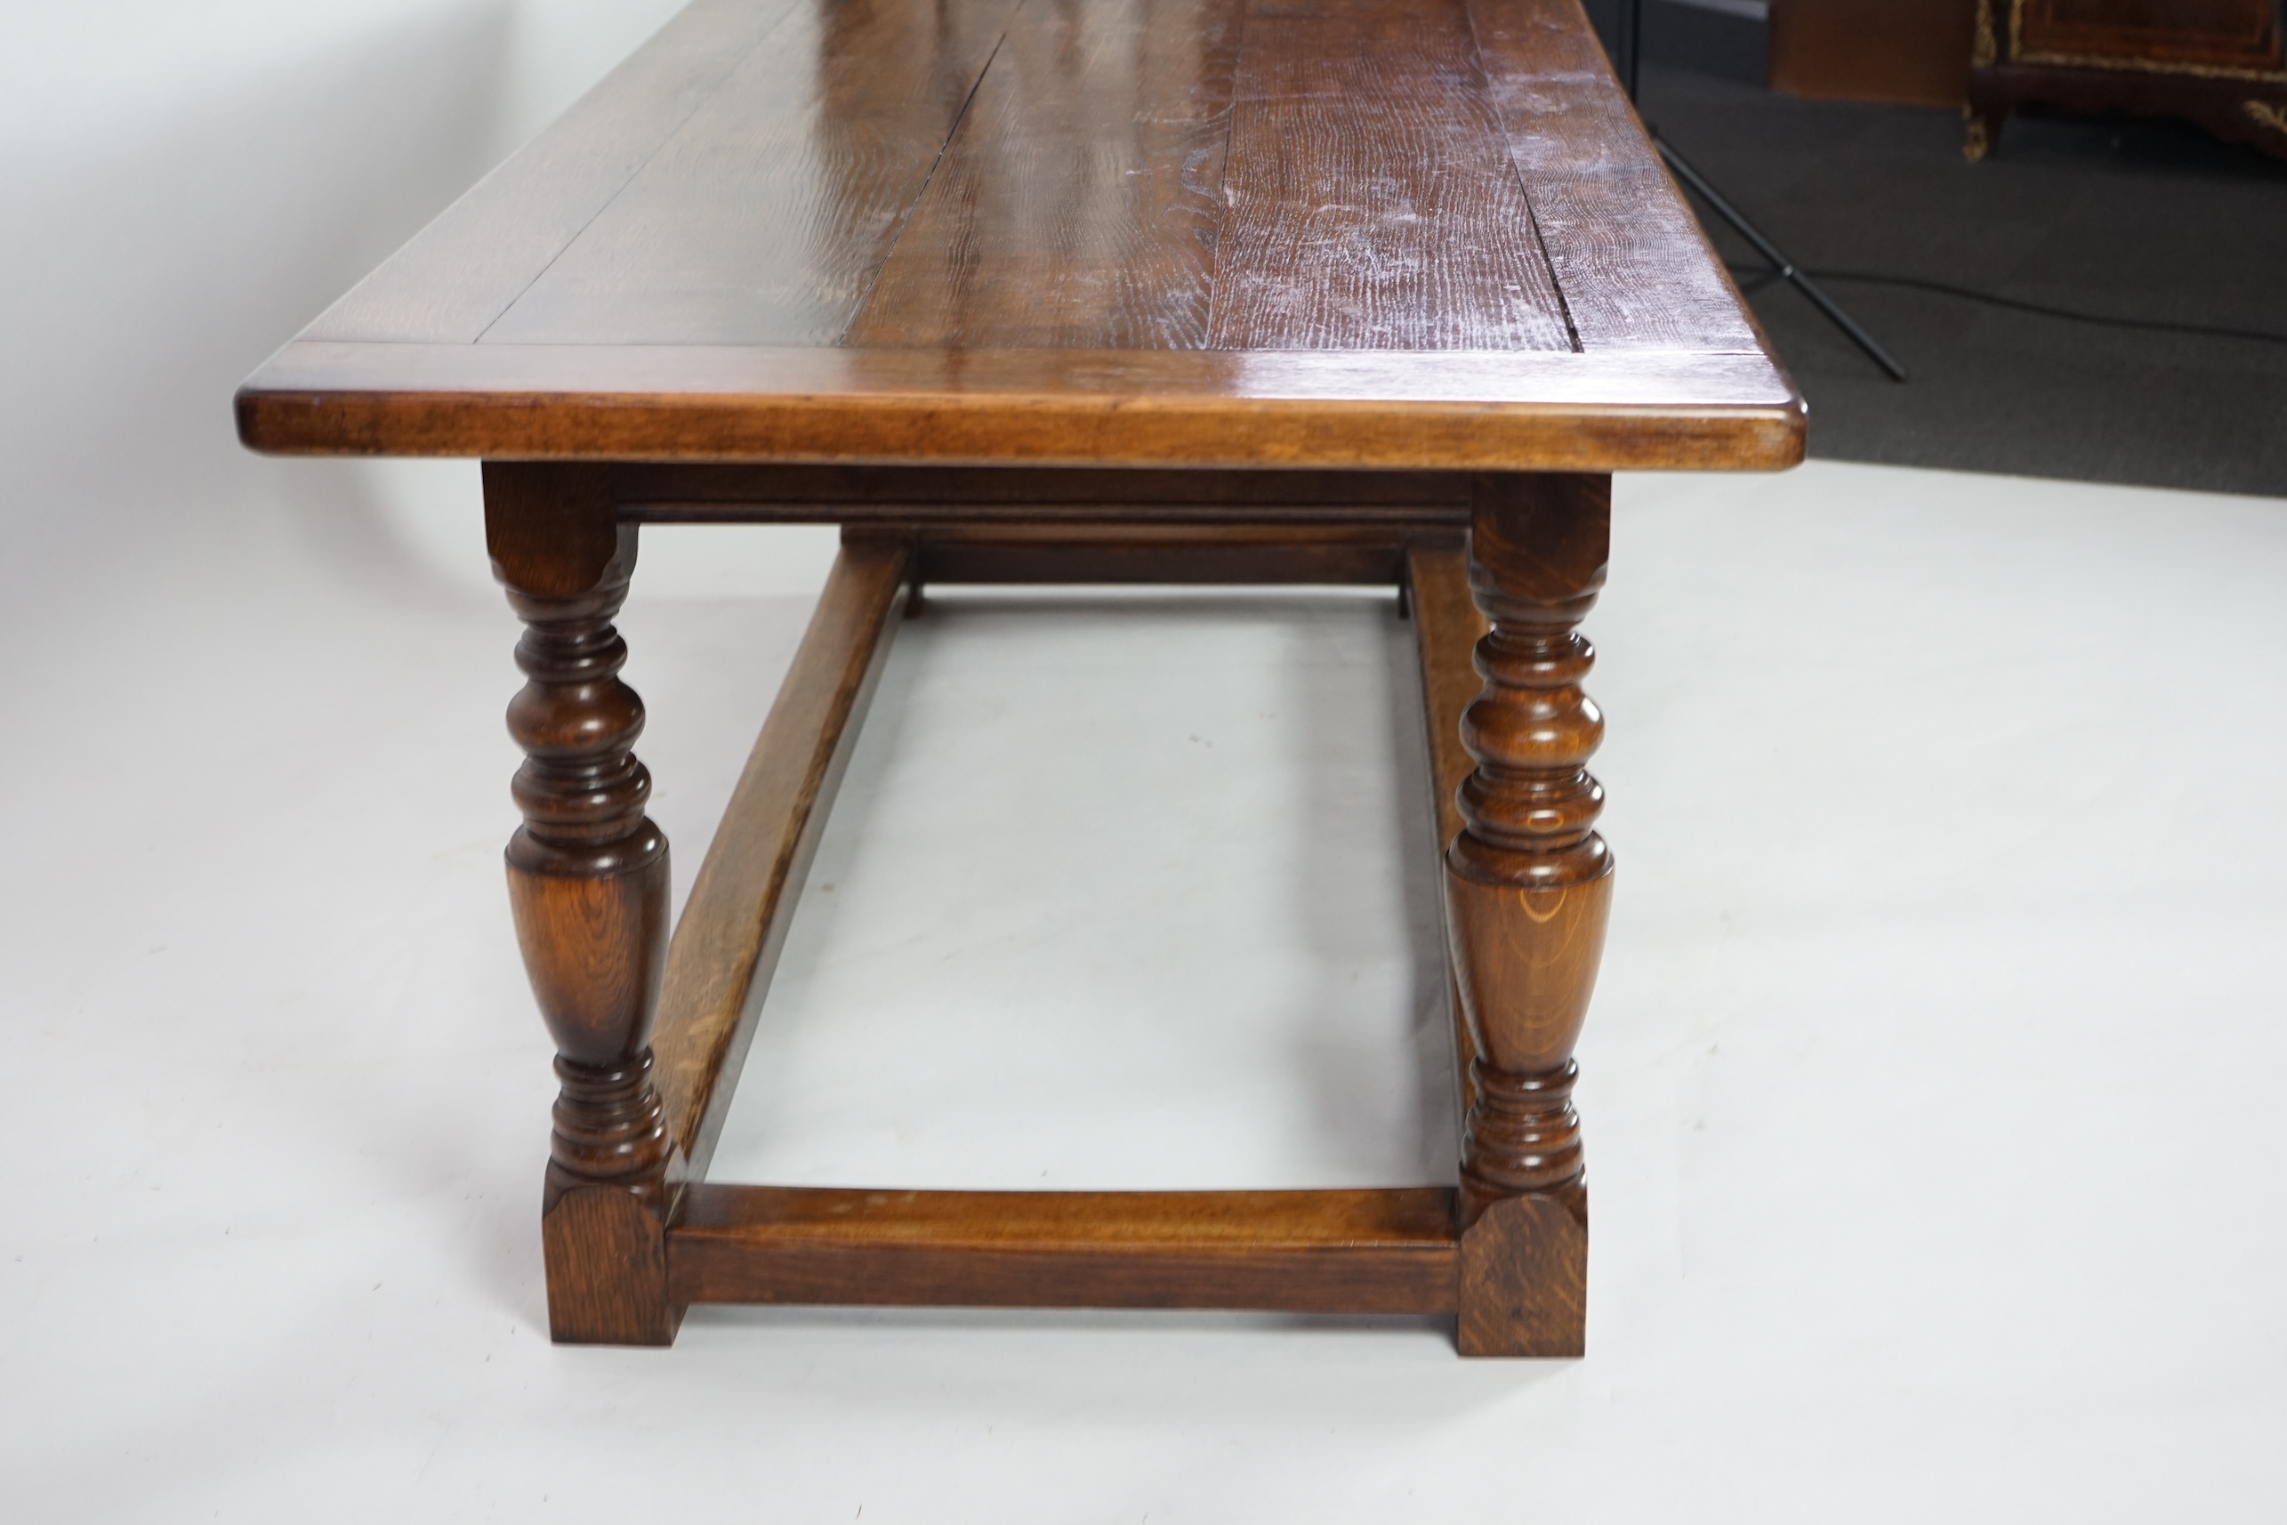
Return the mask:
<path id="1" fill-rule="evenodd" d="M 563 1086 L 540 1209 L 549 1333 L 668 1344 L 670 1148 L 650 1047 L 668 839 L 643 814 L 643 700 L 620 681 L 627 642 L 611 624 L 636 526 L 617 524 L 599 466 L 487 462 L 485 540 L 524 620 L 526 684 L 508 706 L 524 828 L 508 841 L 508 899 Z"/>

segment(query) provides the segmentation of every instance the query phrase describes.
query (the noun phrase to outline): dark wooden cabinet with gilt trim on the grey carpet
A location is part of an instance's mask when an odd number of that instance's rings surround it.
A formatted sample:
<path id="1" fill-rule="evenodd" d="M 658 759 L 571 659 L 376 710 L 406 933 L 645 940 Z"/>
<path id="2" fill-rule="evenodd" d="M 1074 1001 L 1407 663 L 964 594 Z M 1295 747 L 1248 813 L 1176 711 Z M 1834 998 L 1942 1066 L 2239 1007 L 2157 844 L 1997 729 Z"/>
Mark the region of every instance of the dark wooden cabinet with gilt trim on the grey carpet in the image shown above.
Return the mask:
<path id="1" fill-rule="evenodd" d="M 2184 117 L 2287 158 L 2280 0 L 1978 0 L 1962 153 L 2035 103 Z"/>

